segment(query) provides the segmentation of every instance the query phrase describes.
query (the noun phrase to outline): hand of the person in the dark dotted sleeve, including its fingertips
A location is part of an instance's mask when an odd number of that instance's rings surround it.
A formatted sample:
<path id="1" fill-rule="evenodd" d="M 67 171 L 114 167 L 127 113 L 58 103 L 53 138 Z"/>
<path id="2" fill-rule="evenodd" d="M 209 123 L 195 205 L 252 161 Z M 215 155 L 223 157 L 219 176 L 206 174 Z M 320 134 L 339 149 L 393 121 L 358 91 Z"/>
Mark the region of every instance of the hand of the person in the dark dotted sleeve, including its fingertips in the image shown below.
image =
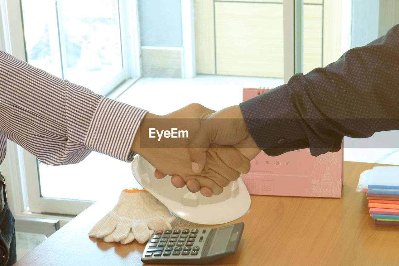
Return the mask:
<path id="1" fill-rule="evenodd" d="M 237 149 L 247 160 L 252 160 L 261 151 L 251 137 L 245 124 L 244 117 L 238 105 L 227 107 L 213 113 L 203 121 L 201 128 L 190 144 L 190 159 L 193 173 L 200 173 L 206 162 L 206 154 L 212 145 L 231 145 Z M 220 156 L 225 161 L 223 156 Z M 236 163 L 240 163 L 237 161 Z M 237 169 L 238 166 L 235 165 Z M 248 173 L 242 171 L 241 173 Z M 185 182 L 179 176 L 172 177 L 175 187 L 184 186 Z M 187 187 L 191 191 L 200 189 L 202 194 L 209 193 L 206 187 L 200 187 L 196 180 L 188 180 Z"/>

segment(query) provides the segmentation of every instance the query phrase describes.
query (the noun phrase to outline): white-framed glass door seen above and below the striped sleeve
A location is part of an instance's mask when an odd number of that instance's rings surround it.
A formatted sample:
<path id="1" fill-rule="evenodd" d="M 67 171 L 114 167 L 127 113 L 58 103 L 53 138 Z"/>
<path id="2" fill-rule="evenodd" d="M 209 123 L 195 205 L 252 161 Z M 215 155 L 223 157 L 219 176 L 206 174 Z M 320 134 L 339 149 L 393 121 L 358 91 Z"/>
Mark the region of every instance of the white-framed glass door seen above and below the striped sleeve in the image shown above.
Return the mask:
<path id="1" fill-rule="evenodd" d="M 8 18 L 21 18 L 29 64 L 102 95 L 139 77 L 136 1 L 21 0 L 20 8 L 15 2 L 7 5 Z M 13 32 L 15 26 L 9 24 Z M 109 158 L 109 165 L 93 169 L 98 156 L 105 157 L 98 153 L 59 167 L 40 163 L 22 149 L 18 153 L 30 212 L 79 214 L 107 197 L 113 186 L 136 186 L 129 164 Z"/>

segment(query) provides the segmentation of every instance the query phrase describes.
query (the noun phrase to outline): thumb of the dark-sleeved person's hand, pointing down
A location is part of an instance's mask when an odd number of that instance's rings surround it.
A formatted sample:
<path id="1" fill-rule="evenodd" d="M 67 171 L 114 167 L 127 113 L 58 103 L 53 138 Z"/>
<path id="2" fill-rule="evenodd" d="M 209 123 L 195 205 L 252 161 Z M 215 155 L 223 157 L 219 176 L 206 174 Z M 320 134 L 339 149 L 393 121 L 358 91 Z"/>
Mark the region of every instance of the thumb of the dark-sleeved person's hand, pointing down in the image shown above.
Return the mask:
<path id="1" fill-rule="evenodd" d="M 209 121 L 209 120 L 208 120 Z M 212 143 L 212 124 L 205 122 L 202 123 L 198 132 L 194 136 L 188 148 L 191 159 L 192 171 L 195 174 L 202 172 L 206 163 L 206 151 Z"/>

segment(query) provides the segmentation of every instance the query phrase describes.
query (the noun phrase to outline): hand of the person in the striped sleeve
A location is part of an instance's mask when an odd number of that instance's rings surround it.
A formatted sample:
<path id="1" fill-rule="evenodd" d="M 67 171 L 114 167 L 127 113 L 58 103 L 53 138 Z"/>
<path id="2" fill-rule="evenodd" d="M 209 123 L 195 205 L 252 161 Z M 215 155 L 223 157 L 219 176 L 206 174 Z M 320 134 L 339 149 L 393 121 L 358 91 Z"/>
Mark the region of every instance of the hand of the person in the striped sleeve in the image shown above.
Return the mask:
<path id="1" fill-rule="evenodd" d="M 192 172 L 189 144 L 199 130 L 201 119 L 206 119 L 206 115 L 213 112 L 202 105 L 190 104 L 164 116 L 148 113 L 140 123 L 131 150 L 144 157 L 158 170 L 156 177 L 160 177 L 160 172 L 171 175 L 174 179 L 179 176 L 184 184 L 194 179 L 196 184 L 204 187 L 203 195 L 218 195 L 231 180 L 239 177 L 240 171 L 249 169 L 249 161 L 237 150 L 231 152 L 231 149 L 217 145 L 205 152 L 205 162 L 201 171 Z M 148 137 L 151 128 L 158 131 L 171 128 L 187 130 L 188 138 L 163 137 L 158 141 L 158 136 Z M 219 157 L 225 158 L 224 161 Z M 231 162 L 240 163 L 231 165 Z"/>

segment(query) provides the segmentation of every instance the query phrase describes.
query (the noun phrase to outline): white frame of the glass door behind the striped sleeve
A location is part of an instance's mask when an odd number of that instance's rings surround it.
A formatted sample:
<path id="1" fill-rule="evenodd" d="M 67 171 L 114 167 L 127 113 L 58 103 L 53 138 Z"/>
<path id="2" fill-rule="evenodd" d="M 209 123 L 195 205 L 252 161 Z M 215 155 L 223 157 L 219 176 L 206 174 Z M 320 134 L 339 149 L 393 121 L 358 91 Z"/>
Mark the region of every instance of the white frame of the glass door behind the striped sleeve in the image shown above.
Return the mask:
<path id="1" fill-rule="evenodd" d="M 97 91 L 99 94 L 113 97 L 119 95 L 141 75 L 138 3 L 136 0 L 118 0 L 118 3 L 124 69 L 117 73 L 118 79 L 109 81 Z M 132 27 L 127 25 L 132 25 Z M 20 1 L 0 0 L 0 34 L 5 36 L 0 41 L 0 49 L 26 61 Z M 134 64 L 126 64 L 126 62 L 134 62 Z M 8 141 L 2 173 L 6 176 L 8 198 L 14 216 L 57 217 L 61 218 L 62 226 L 72 216 L 59 217 L 42 213 L 77 215 L 94 203 L 88 200 L 41 197 L 36 157 L 12 141 Z"/>

